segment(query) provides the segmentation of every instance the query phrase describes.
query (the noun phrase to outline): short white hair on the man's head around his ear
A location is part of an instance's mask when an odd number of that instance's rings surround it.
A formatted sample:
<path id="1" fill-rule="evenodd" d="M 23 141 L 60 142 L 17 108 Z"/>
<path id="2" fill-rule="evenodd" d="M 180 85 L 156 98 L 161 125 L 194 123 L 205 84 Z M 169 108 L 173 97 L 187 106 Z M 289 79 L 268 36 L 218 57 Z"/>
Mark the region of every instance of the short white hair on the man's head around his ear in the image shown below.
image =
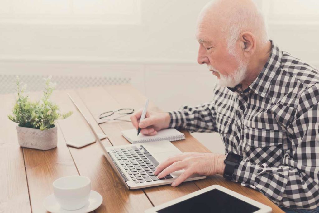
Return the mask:
<path id="1" fill-rule="evenodd" d="M 229 17 L 226 29 L 227 49 L 230 54 L 237 56 L 235 44 L 242 32 L 249 31 L 256 35 L 257 43 L 266 44 L 269 42 L 267 27 L 263 14 L 254 4 L 255 8 L 235 8 Z M 228 30 L 227 30 L 228 29 Z"/>

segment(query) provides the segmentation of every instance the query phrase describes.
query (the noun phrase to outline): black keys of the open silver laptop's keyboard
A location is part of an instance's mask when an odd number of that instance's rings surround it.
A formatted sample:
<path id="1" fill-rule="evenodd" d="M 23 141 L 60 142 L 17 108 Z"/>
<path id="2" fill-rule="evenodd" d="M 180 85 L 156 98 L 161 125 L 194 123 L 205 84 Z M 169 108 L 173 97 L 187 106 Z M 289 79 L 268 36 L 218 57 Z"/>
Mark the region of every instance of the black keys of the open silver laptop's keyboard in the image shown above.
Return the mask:
<path id="1" fill-rule="evenodd" d="M 158 178 L 154 175 L 157 160 L 144 148 L 144 146 L 131 146 L 126 148 L 115 148 L 110 150 L 117 160 L 121 163 L 125 171 L 128 172 L 134 183 L 144 183 L 156 181 Z M 173 178 L 171 175 L 163 179 Z"/>

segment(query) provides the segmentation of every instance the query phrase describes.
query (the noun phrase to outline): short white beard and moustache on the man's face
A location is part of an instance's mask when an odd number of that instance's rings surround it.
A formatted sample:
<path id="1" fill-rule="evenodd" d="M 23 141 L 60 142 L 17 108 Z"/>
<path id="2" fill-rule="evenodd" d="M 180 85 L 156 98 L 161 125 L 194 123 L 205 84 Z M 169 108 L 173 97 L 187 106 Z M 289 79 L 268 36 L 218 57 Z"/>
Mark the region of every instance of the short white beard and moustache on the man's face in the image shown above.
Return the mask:
<path id="1" fill-rule="evenodd" d="M 208 65 L 209 70 L 214 70 L 219 73 L 220 78 L 218 84 L 220 87 L 235 87 L 245 79 L 248 64 L 240 59 L 237 60 L 239 61 L 238 68 L 228 76 L 220 74 L 212 65 Z"/>

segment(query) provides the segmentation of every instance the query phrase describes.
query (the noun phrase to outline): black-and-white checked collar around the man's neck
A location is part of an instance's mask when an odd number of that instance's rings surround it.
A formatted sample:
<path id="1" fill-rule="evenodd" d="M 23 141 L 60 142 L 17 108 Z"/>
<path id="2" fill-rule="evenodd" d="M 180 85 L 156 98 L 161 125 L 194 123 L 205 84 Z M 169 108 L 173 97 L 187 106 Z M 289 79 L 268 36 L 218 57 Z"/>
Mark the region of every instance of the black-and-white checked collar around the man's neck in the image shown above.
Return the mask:
<path id="1" fill-rule="evenodd" d="M 263 70 L 259 73 L 258 77 L 249 85 L 249 88 L 257 93 L 258 95 L 265 97 L 269 89 L 271 80 L 274 78 L 277 70 L 280 68 L 281 59 L 283 56 L 282 51 L 278 48 L 272 40 L 271 42 L 271 53 L 263 67 Z M 241 84 L 231 88 L 228 87 L 232 92 L 242 93 Z M 248 88 L 246 90 L 249 90 Z M 244 91 L 245 92 L 245 91 Z"/>

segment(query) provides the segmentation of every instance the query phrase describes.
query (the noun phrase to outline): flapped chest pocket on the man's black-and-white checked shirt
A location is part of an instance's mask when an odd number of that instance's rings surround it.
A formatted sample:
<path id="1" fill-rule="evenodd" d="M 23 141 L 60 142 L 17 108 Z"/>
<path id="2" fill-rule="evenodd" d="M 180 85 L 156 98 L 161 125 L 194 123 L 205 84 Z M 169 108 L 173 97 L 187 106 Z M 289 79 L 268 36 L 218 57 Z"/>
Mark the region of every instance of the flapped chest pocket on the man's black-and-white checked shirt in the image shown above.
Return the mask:
<path id="1" fill-rule="evenodd" d="M 282 162 L 283 130 L 244 126 L 246 157 L 251 163 L 278 166 Z"/>

